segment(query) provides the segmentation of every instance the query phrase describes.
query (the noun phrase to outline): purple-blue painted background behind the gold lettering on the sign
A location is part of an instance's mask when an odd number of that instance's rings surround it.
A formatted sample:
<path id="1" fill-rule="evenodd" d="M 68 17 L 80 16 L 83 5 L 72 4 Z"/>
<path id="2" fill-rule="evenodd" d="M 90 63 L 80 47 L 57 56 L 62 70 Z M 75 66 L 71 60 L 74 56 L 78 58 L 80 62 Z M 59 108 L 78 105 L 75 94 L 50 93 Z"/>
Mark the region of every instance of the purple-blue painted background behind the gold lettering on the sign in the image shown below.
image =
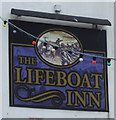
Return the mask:
<path id="1" fill-rule="evenodd" d="M 50 70 L 61 70 L 61 69 L 57 69 L 57 68 L 53 68 L 53 67 L 50 67 L 48 65 L 46 65 L 45 63 L 43 63 L 39 58 L 38 56 L 36 55 L 35 53 L 35 49 L 34 47 L 32 46 L 20 46 L 20 45 L 17 45 L 17 44 L 14 44 L 12 46 L 12 58 L 13 58 L 13 68 L 14 67 L 22 67 L 22 72 L 21 72 L 21 78 L 22 80 L 24 78 L 27 77 L 27 72 L 26 72 L 26 67 L 29 67 L 29 68 L 41 68 L 41 69 L 50 69 Z M 104 56 L 104 53 L 93 53 L 93 52 L 85 52 L 85 53 L 89 53 L 91 55 L 97 55 L 97 56 Z M 37 58 L 37 65 L 36 66 L 33 66 L 33 65 L 21 65 L 19 64 L 19 60 L 18 60 L 18 56 L 30 56 L 30 57 L 36 57 Z M 97 58 L 97 64 L 92 64 L 91 61 L 92 61 L 92 57 L 88 57 L 88 56 L 84 56 L 83 57 L 84 61 L 83 62 L 79 62 L 78 64 L 76 64 L 75 66 L 73 67 L 70 67 L 70 68 L 65 68 L 65 69 L 62 69 L 63 71 L 65 71 L 66 73 L 69 73 L 71 71 L 76 71 L 78 72 L 81 76 L 83 76 L 84 73 L 88 73 L 88 74 L 91 74 L 91 73 L 102 73 L 102 74 L 105 74 L 105 64 L 104 64 L 104 60 L 101 59 L 101 58 Z M 13 70 L 13 78 L 12 79 L 12 84 L 13 84 L 13 91 L 15 91 L 16 87 L 21 85 L 21 84 L 18 84 L 18 83 L 15 83 L 15 80 L 16 80 L 16 71 Z M 105 78 L 105 77 L 104 77 Z M 52 103 L 51 103 L 51 99 L 49 100 L 46 100 L 46 101 L 43 101 L 41 103 L 34 103 L 32 101 L 28 101 L 28 102 L 23 102 L 21 100 L 19 100 L 16 95 L 14 94 L 13 95 L 13 104 L 14 106 L 18 105 L 18 106 L 27 106 L 27 107 L 38 107 L 38 108 L 57 108 L 57 109 L 74 109 L 74 110 L 101 110 L 101 111 L 105 111 L 106 110 L 106 92 L 105 92 L 105 85 L 106 85 L 106 80 L 105 79 L 100 79 L 100 86 L 101 88 L 100 89 L 88 89 L 88 88 L 72 88 L 70 87 L 69 85 L 65 86 L 65 87 L 56 87 L 56 86 L 44 86 L 44 85 L 29 85 L 29 84 L 26 84 L 26 86 L 29 88 L 29 89 L 35 89 L 35 91 L 32 92 L 32 96 L 35 96 L 37 94 L 40 94 L 40 93 L 43 93 L 43 92 L 46 92 L 46 91 L 49 91 L 49 90 L 59 90 L 61 92 L 64 93 L 65 96 L 66 95 L 66 90 L 76 90 L 78 92 L 81 93 L 81 91 L 92 91 L 93 93 L 95 92 L 101 92 L 101 107 L 98 108 L 95 103 L 94 104 L 94 107 L 91 108 L 91 107 L 83 107 L 82 105 L 79 106 L 79 107 L 69 107 L 69 106 L 66 106 L 66 102 L 67 100 L 63 100 L 63 103 L 60 105 L 60 106 L 54 106 Z M 90 79 L 91 80 L 91 85 L 94 86 L 94 80 L 93 78 Z M 41 81 L 42 83 L 44 83 L 45 81 Z M 73 81 L 75 83 L 75 81 Z M 23 84 L 22 84 L 23 85 Z M 25 86 L 25 85 L 24 85 Z M 12 92 L 13 92 L 12 91 Z M 25 89 L 20 89 L 19 90 L 19 96 L 21 97 L 26 97 L 27 96 L 27 92 L 25 91 Z M 74 99 L 74 98 L 73 98 Z M 88 103 L 88 99 L 87 99 L 87 103 Z"/>

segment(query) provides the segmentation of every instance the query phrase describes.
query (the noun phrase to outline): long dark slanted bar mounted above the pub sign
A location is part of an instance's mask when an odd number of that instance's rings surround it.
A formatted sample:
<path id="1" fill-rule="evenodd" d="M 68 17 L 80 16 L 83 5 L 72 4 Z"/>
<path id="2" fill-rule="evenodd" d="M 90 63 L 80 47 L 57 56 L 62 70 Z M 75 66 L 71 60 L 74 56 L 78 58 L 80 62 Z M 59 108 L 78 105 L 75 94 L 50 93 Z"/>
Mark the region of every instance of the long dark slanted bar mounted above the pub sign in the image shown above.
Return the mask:
<path id="1" fill-rule="evenodd" d="M 20 9 L 14 9 L 14 8 L 11 9 L 11 14 L 18 15 L 18 16 L 29 16 L 29 17 L 63 20 L 63 21 L 70 21 L 70 22 L 88 23 L 88 24 L 94 24 L 94 25 L 111 26 L 110 21 L 107 19 L 96 19 L 96 18 L 89 18 L 89 17 L 70 16 L 70 15 L 63 15 L 63 14 L 20 10 Z"/>

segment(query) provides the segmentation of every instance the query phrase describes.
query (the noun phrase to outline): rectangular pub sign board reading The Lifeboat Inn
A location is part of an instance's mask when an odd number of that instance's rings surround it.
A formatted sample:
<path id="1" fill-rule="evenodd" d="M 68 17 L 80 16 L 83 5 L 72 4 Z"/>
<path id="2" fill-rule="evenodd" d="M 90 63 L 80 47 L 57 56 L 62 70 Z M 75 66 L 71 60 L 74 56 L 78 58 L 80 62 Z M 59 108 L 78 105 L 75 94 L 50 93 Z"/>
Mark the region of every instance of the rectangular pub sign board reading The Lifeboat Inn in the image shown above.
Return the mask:
<path id="1" fill-rule="evenodd" d="M 10 106 L 109 110 L 105 30 L 9 21 Z"/>

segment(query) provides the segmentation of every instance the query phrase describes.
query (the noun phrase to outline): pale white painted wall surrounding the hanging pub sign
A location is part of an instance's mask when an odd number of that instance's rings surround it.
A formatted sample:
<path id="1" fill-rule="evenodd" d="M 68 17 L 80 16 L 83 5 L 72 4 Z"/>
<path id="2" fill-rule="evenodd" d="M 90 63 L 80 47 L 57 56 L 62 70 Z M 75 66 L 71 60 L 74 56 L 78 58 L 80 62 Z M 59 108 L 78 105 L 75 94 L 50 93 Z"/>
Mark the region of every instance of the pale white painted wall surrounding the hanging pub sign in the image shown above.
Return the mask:
<path id="1" fill-rule="evenodd" d="M 42 12 L 54 12 L 54 2 L 27 2 L 27 3 L 2 3 L 2 16 L 5 19 L 14 18 L 10 14 L 11 8 L 20 8 L 27 10 L 35 10 Z M 61 14 L 95 17 L 95 18 L 106 18 L 112 23 L 111 27 L 104 27 L 107 30 L 107 47 L 108 57 L 114 57 L 114 3 L 112 2 L 59 2 L 61 5 Z M 19 19 L 27 20 L 22 17 Z M 50 23 L 49 20 L 29 18 L 29 21 L 43 21 Z M 52 21 L 52 23 L 80 26 L 81 24 L 70 23 L 70 22 L 58 22 Z M 88 27 L 87 25 L 82 25 Z M 8 28 L 3 28 L 3 39 L 2 39 L 2 87 L 3 87 L 3 117 L 8 118 L 113 118 L 114 117 L 114 62 L 112 66 L 108 68 L 108 82 L 109 82 L 109 114 L 107 112 L 84 112 L 84 111 L 69 111 L 69 110 L 50 110 L 50 109 L 31 109 L 31 108 L 16 108 L 9 107 L 9 69 L 8 69 Z"/>

